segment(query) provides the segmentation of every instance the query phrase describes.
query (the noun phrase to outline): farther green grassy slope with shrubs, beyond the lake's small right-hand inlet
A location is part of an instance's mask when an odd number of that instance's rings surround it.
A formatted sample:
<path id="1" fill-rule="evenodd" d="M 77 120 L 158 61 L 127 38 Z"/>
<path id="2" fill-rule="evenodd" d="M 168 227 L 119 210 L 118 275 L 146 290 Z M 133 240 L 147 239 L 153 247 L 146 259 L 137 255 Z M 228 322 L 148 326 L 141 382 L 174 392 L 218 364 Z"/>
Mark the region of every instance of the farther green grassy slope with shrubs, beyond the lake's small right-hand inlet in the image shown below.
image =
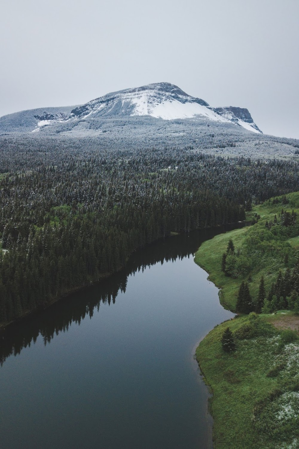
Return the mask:
<path id="1" fill-rule="evenodd" d="M 286 202 L 284 204 L 284 202 Z M 209 273 L 209 278 L 215 285 L 221 288 L 221 304 L 235 311 L 238 288 L 241 282 L 249 282 L 250 293 L 253 299 L 258 295 L 260 277 L 265 280 L 266 294 L 268 294 L 272 282 L 276 281 L 279 270 L 282 273 L 287 268 L 292 269 L 298 261 L 297 250 L 299 248 L 299 225 L 281 225 L 281 212 L 294 210 L 299 217 L 299 193 L 288 194 L 286 198 L 278 197 L 255 206 L 250 212 L 256 215 L 258 222 L 250 227 L 235 229 L 225 234 L 217 235 L 204 242 L 195 254 L 195 263 Z M 266 228 L 267 222 L 277 224 Z M 236 254 L 236 270 L 230 276 L 225 276 L 221 271 L 222 255 L 227 249 L 230 238 L 234 242 Z M 287 255 L 287 262 L 286 262 Z"/>

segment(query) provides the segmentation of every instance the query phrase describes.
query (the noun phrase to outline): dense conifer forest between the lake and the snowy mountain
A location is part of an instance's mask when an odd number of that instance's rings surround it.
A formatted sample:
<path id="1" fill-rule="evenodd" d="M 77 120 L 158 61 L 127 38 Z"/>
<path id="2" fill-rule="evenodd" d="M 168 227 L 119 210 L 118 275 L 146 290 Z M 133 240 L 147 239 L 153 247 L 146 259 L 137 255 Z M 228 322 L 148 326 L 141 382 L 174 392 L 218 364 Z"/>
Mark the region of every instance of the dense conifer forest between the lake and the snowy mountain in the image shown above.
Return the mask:
<path id="1" fill-rule="evenodd" d="M 245 219 L 299 189 L 299 164 L 186 148 L 113 150 L 92 140 L 4 137 L 0 321 L 45 307 L 171 232 Z"/>

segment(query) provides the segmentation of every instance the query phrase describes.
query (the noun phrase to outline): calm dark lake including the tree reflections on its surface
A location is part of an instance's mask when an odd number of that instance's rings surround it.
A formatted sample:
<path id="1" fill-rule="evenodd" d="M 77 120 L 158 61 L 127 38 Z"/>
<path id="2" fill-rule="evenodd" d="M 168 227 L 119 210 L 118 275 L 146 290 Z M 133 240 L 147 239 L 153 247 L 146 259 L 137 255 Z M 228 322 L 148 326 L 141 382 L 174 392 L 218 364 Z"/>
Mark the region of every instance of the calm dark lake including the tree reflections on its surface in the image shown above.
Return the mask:
<path id="1" fill-rule="evenodd" d="M 148 246 L 0 333 L 0 447 L 211 448 L 194 354 L 233 314 L 193 254 L 226 229 Z"/>

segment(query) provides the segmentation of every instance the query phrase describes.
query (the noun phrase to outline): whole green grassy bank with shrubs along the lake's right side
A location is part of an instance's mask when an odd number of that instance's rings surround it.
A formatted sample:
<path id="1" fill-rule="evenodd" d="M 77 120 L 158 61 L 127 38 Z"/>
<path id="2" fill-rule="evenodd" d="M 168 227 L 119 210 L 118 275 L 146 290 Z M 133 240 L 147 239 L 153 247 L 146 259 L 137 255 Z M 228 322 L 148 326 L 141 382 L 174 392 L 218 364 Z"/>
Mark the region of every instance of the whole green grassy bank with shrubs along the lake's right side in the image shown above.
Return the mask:
<path id="1" fill-rule="evenodd" d="M 195 262 L 221 288 L 221 304 L 233 312 L 242 281 L 248 282 L 253 301 L 262 276 L 266 296 L 279 272 L 290 280 L 289 291 L 296 287 L 299 193 L 255 206 L 250 215 L 258 220 L 255 225 L 217 235 L 195 255 Z M 234 254 L 224 273 L 222 256 L 230 239 Z M 216 449 L 299 447 L 298 326 L 299 317 L 288 310 L 241 315 L 216 326 L 199 344 L 196 358 L 213 392 Z M 236 342 L 232 353 L 221 345 L 226 327 Z"/>

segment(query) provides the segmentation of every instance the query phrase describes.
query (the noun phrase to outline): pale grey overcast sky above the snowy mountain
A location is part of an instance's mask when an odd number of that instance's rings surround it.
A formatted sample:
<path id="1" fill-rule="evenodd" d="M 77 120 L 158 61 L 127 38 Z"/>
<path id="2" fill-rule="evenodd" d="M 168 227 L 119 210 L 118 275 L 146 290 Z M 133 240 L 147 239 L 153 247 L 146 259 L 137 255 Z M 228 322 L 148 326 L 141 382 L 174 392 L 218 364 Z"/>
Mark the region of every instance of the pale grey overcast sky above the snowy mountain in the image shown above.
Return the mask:
<path id="1" fill-rule="evenodd" d="M 299 0 L 1 0 L 0 116 L 160 81 L 299 138 Z"/>

